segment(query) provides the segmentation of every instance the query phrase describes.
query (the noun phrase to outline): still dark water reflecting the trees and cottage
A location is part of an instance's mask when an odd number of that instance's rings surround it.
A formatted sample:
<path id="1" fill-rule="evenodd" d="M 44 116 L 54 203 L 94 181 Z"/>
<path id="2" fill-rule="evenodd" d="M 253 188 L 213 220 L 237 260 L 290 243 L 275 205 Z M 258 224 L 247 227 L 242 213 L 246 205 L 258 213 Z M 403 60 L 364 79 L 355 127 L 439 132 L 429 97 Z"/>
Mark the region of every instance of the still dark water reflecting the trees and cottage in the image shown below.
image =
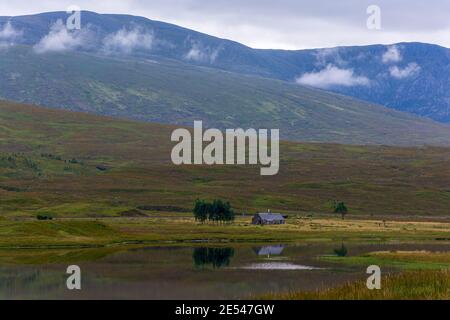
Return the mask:
<path id="1" fill-rule="evenodd" d="M 367 266 L 323 255 L 380 250 L 450 251 L 449 244 L 266 244 L 79 250 L 0 250 L 0 299 L 245 299 L 316 290 L 367 277 Z M 66 288 L 68 265 L 81 290 Z M 392 270 L 395 271 L 395 270 Z"/>

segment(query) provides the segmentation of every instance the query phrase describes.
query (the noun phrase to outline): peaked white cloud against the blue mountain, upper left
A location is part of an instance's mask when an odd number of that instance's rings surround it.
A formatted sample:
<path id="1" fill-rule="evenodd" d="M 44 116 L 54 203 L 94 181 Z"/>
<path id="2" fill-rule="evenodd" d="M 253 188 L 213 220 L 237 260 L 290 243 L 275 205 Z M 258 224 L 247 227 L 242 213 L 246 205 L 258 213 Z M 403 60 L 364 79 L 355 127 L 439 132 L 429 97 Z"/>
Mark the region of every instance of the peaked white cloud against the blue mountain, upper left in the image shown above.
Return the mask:
<path id="1" fill-rule="evenodd" d="M 34 46 L 34 50 L 37 53 L 74 50 L 85 45 L 88 36 L 87 29 L 69 31 L 62 20 L 57 20 L 49 33 Z"/>

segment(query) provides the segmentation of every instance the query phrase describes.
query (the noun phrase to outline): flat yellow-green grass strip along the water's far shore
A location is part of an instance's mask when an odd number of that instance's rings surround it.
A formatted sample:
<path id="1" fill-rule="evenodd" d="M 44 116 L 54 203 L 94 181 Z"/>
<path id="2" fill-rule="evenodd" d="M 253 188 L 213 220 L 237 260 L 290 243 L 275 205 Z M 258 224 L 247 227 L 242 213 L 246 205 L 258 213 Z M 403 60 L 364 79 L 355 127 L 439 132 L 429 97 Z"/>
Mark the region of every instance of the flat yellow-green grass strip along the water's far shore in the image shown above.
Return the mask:
<path id="1" fill-rule="evenodd" d="M 153 218 L 82 218 L 50 221 L 0 220 L 0 248 L 62 248 L 151 243 L 302 242 L 302 241 L 435 241 L 448 237 L 442 222 L 392 221 L 337 217 L 288 218 L 285 225 L 255 226 L 251 217 L 232 224 L 200 224 L 177 215 Z M 408 229 L 404 226 L 414 226 Z M 331 258 L 330 258 L 331 259 Z M 349 257 L 348 259 L 357 259 Z M 362 261 L 361 263 L 365 263 Z"/>

